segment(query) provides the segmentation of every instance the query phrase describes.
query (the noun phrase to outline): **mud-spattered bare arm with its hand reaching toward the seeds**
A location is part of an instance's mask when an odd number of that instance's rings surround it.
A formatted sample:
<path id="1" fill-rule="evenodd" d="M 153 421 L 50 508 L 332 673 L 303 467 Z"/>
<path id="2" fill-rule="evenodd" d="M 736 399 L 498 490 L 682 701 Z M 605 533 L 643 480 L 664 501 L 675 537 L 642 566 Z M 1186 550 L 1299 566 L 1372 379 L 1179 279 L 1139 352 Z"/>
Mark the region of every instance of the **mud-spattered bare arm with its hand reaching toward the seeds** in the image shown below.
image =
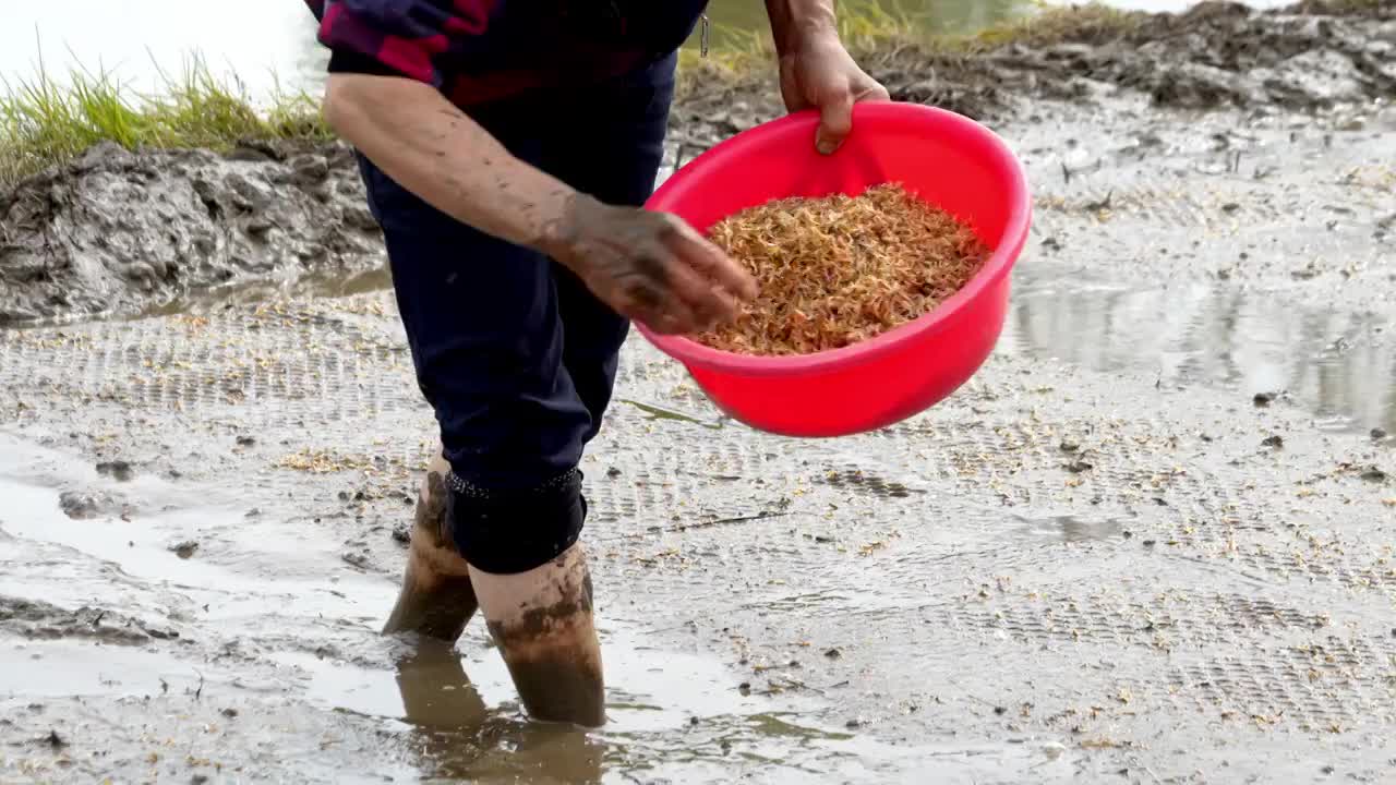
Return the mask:
<path id="1" fill-rule="evenodd" d="M 511 155 L 429 84 L 335 73 L 325 119 L 402 187 L 462 223 L 543 251 L 662 332 L 737 314 L 755 281 L 683 219 L 606 205 Z M 586 155 L 586 149 L 577 149 Z"/>

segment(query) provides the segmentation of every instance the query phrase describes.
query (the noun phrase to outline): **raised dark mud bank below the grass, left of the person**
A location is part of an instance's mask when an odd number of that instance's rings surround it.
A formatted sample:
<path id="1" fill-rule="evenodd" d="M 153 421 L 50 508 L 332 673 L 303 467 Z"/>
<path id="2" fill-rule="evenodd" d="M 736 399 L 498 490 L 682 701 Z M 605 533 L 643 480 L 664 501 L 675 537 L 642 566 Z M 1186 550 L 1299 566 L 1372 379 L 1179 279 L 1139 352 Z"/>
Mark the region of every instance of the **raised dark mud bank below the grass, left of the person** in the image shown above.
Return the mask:
<path id="1" fill-rule="evenodd" d="M 378 267 L 378 228 L 343 145 L 215 155 L 103 144 L 0 194 L 0 325 Z"/>

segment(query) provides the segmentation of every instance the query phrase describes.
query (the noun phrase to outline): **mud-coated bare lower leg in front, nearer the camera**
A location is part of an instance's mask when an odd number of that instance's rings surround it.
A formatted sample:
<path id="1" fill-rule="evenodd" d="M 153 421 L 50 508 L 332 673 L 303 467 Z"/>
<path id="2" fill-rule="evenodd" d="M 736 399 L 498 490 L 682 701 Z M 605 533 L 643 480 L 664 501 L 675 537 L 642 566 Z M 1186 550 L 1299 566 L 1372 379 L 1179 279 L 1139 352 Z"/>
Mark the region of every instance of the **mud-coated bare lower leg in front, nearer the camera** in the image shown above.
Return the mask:
<path id="1" fill-rule="evenodd" d="M 602 651 L 592 619 L 592 578 L 574 545 L 514 575 L 470 568 L 490 634 L 529 717 L 595 728 L 606 722 Z"/>

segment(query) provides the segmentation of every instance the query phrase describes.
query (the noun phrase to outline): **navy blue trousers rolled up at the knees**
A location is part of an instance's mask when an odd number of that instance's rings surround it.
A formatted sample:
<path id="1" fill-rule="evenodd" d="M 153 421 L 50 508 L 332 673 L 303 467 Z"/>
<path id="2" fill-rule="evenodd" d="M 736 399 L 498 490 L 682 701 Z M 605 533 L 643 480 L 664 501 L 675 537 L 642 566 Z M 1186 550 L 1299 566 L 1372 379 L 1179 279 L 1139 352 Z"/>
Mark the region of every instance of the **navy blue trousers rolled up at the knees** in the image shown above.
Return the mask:
<path id="1" fill-rule="evenodd" d="M 669 56 L 596 85 L 535 91 L 468 113 L 517 158 L 604 203 L 638 207 L 663 154 L 674 63 Z M 627 321 L 551 258 L 455 221 L 363 156 L 360 169 L 452 472 L 500 497 L 556 485 L 600 427 Z M 561 504 L 571 513 L 560 515 L 577 518 L 577 507 L 585 506 Z M 461 529 L 480 528 L 461 514 L 455 524 L 458 541 L 469 536 Z M 563 542 L 543 539 L 543 550 Z"/>

